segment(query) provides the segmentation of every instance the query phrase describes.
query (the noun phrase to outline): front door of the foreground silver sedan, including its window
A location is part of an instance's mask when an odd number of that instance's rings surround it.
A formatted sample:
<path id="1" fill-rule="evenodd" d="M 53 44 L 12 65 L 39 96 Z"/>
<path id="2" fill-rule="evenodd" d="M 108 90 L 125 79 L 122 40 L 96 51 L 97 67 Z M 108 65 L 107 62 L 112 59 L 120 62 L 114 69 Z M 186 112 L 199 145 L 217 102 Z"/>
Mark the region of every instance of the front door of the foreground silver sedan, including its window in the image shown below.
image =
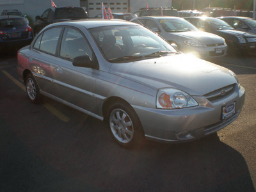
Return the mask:
<path id="1" fill-rule="evenodd" d="M 77 28 L 66 27 L 60 45 L 60 54 L 55 63 L 54 84 L 59 91 L 57 97 L 72 106 L 95 113 L 95 81 L 97 68 L 75 67 L 72 61 L 77 56 L 88 56 L 97 63 L 95 54 L 83 33 Z"/>

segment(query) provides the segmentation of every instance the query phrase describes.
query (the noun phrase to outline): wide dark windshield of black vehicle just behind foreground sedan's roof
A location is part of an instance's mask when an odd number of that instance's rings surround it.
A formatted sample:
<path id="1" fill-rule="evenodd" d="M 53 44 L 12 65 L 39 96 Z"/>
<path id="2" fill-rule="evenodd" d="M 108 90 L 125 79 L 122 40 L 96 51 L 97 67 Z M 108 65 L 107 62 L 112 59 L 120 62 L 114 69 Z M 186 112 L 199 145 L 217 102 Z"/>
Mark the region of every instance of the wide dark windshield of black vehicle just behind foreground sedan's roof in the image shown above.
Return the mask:
<path id="1" fill-rule="evenodd" d="M 56 8 L 56 19 L 83 19 L 87 18 L 83 8 Z"/>

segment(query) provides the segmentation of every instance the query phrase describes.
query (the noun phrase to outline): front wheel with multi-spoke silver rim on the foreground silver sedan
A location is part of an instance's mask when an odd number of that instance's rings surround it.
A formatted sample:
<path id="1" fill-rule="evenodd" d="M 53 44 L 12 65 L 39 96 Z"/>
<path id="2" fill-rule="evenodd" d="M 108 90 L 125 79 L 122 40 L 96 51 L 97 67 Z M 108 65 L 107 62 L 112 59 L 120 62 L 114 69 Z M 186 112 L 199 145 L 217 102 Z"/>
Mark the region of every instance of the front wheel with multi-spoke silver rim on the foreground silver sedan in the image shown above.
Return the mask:
<path id="1" fill-rule="evenodd" d="M 133 148 L 144 140 L 140 120 L 128 104 L 113 104 L 108 110 L 107 120 L 109 132 L 118 145 Z"/>

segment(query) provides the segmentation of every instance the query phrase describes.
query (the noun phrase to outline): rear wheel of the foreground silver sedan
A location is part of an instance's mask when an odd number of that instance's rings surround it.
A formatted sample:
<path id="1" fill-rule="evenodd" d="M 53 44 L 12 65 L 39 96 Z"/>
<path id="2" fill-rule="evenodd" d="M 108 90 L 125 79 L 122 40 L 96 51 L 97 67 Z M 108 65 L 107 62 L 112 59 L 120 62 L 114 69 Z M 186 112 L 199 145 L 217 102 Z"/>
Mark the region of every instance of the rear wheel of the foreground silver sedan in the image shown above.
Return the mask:
<path id="1" fill-rule="evenodd" d="M 35 104 L 38 104 L 40 102 L 41 95 L 38 85 L 36 84 L 36 80 L 32 74 L 28 74 L 28 76 L 26 76 L 25 85 L 29 100 Z"/>

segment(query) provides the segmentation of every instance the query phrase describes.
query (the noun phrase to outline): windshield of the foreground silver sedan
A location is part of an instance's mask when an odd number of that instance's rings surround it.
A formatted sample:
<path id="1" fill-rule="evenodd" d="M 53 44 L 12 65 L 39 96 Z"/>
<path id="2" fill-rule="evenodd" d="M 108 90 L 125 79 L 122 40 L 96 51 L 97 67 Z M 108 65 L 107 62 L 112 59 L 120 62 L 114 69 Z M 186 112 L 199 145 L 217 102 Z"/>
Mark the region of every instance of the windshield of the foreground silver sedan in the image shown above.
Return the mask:
<path id="1" fill-rule="evenodd" d="M 106 26 L 89 31 L 108 61 L 125 62 L 179 54 L 172 45 L 143 26 Z"/>

